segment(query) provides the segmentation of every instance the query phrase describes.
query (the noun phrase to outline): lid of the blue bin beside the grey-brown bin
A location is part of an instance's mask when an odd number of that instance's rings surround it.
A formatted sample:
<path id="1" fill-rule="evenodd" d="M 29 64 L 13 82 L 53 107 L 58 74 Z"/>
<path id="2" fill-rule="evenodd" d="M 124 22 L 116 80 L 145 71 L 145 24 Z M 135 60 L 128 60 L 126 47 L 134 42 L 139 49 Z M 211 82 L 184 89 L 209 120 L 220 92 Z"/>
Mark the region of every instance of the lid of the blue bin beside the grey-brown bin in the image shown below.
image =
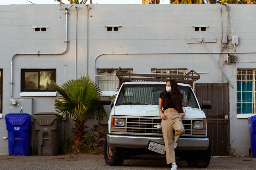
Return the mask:
<path id="1" fill-rule="evenodd" d="M 4 119 L 10 122 L 12 125 L 22 125 L 27 119 L 31 119 L 32 116 L 27 113 L 9 113 L 4 116 Z"/>

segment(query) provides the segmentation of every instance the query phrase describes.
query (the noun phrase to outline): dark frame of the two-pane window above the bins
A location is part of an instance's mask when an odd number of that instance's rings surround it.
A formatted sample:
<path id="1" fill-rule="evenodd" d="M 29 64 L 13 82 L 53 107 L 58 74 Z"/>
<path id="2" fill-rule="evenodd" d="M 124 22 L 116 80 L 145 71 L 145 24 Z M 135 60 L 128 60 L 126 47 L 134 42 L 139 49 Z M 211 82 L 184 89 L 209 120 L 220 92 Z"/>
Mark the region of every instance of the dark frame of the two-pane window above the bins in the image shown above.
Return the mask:
<path id="1" fill-rule="evenodd" d="M 21 69 L 21 92 L 56 92 L 56 90 L 40 90 L 40 76 L 38 76 L 38 87 L 37 89 L 25 89 L 25 73 L 26 72 L 38 72 L 40 75 L 40 71 L 53 71 L 54 72 L 54 80 L 56 82 L 56 69 Z"/>

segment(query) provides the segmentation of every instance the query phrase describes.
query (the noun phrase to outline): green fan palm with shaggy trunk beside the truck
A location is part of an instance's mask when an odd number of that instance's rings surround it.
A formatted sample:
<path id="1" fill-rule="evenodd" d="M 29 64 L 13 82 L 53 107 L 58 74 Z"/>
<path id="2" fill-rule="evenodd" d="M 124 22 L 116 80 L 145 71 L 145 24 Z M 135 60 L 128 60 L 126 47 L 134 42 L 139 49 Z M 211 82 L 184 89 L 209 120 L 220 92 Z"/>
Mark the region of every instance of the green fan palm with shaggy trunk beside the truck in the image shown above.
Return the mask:
<path id="1" fill-rule="evenodd" d="M 58 92 L 60 100 L 55 99 L 55 110 L 57 113 L 66 115 L 75 121 L 73 134 L 73 149 L 78 151 L 84 144 L 87 128 L 86 121 L 94 113 L 97 121 L 108 119 L 104 107 L 100 104 L 100 89 L 87 76 L 80 79 L 69 80 L 62 86 L 51 82 L 53 88 Z"/>

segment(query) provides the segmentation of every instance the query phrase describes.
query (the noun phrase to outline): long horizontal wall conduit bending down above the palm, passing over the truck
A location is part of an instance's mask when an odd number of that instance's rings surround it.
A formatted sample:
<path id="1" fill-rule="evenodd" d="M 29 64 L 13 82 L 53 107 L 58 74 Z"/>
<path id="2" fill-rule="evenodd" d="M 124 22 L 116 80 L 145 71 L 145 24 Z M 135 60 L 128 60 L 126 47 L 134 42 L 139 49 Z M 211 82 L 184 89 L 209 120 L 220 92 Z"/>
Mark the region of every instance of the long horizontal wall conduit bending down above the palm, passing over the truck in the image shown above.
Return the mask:
<path id="1" fill-rule="evenodd" d="M 232 52 L 211 52 L 210 54 L 230 54 Z M 254 54 L 256 52 L 236 52 L 236 54 Z M 94 60 L 94 82 L 96 83 L 96 76 L 97 76 L 97 69 L 96 69 L 96 60 L 102 56 L 102 55 L 138 55 L 138 54 L 142 54 L 142 55 L 163 55 L 163 54 L 209 54 L 209 52 L 173 52 L 173 53 L 103 53 L 98 55 L 95 60 Z"/>

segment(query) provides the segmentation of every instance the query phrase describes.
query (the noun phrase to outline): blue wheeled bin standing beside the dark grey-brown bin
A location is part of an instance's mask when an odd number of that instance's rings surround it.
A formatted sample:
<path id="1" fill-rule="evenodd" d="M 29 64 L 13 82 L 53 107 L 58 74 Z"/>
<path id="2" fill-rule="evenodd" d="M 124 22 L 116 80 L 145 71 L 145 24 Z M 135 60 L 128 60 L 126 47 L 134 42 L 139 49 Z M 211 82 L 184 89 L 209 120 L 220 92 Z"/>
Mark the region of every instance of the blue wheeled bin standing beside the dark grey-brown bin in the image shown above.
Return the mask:
<path id="1" fill-rule="evenodd" d="M 4 119 L 8 131 L 9 156 L 31 155 L 31 116 L 27 113 L 9 113 Z"/>

